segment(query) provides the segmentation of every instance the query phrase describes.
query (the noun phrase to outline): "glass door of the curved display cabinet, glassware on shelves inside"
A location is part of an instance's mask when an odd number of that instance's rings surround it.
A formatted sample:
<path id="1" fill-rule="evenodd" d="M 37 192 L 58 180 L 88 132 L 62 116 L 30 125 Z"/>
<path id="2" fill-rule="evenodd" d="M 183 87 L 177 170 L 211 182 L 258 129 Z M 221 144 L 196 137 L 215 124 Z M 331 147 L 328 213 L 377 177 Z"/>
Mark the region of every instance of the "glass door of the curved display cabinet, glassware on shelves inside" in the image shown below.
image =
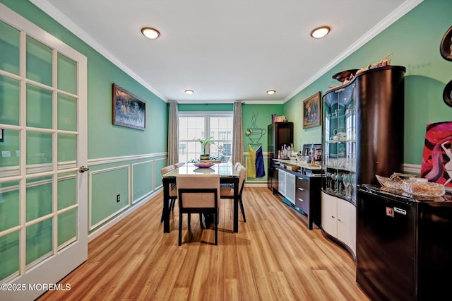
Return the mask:
<path id="1" fill-rule="evenodd" d="M 356 203 L 355 83 L 323 95 L 323 189 Z"/>

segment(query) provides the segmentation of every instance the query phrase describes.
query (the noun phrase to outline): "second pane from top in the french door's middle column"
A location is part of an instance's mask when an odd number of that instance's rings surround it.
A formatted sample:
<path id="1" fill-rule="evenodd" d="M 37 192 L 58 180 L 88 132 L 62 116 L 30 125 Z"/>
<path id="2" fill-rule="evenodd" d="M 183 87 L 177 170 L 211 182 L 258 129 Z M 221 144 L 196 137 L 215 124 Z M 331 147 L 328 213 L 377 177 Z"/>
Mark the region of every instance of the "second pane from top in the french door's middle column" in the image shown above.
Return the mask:
<path id="1" fill-rule="evenodd" d="M 52 129 L 52 92 L 27 85 L 27 126 Z"/>

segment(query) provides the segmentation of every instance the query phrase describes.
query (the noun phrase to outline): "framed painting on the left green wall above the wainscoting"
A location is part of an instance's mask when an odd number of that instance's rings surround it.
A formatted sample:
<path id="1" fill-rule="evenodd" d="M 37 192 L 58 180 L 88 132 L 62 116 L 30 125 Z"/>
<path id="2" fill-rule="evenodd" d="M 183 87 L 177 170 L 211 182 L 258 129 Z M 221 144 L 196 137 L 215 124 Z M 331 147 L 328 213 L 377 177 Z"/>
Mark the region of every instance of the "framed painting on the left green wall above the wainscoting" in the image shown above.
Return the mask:
<path id="1" fill-rule="evenodd" d="M 146 129 L 146 102 L 113 84 L 113 124 Z"/>

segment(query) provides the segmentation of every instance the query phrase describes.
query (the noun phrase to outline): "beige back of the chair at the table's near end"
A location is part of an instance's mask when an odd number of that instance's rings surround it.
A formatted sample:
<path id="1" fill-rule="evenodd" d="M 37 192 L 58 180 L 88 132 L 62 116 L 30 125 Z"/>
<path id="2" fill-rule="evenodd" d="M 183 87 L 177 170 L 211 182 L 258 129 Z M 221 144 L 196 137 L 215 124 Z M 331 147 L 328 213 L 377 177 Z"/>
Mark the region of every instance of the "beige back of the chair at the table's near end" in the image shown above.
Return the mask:
<path id="1" fill-rule="evenodd" d="M 218 208 L 219 175 L 178 175 L 176 178 L 180 208 Z"/>

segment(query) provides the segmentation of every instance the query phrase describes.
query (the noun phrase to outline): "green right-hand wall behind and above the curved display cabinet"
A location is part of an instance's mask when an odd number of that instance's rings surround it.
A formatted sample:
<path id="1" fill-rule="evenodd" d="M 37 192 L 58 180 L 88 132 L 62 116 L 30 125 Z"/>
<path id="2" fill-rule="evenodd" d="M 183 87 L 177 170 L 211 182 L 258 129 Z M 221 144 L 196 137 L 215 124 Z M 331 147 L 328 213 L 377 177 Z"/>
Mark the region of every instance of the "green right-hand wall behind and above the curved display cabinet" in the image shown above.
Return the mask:
<path id="1" fill-rule="evenodd" d="M 424 0 L 382 33 L 357 49 L 321 78 L 284 105 L 284 113 L 295 126 L 299 141 L 321 141 L 321 126 L 302 129 L 302 101 L 328 86 L 338 85 L 331 76 L 347 69 L 361 69 L 392 53 L 391 65 L 405 66 L 405 163 L 420 165 L 427 123 L 452 120 L 452 108 L 442 98 L 452 80 L 452 62 L 439 54 L 439 43 L 452 25 L 452 1 Z M 328 38 L 328 37 L 326 37 Z M 305 143 L 305 142 L 303 142 Z"/>

